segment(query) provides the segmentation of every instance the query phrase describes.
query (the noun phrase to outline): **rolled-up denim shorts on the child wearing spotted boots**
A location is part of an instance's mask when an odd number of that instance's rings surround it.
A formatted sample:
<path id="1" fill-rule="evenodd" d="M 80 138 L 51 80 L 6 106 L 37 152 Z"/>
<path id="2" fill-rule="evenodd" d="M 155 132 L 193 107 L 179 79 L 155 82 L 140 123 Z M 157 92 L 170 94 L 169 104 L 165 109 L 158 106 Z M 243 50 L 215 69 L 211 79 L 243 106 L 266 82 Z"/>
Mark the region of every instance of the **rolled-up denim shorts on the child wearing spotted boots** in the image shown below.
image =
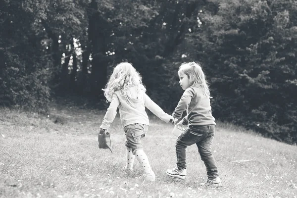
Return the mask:
<path id="1" fill-rule="evenodd" d="M 144 138 L 148 132 L 148 125 L 145 124 L 129 124 L 124 127 L 126 142 L 125 146 L 132 149 L 135 154 L 136 150 L 143 150 L 141 139 Z"/>

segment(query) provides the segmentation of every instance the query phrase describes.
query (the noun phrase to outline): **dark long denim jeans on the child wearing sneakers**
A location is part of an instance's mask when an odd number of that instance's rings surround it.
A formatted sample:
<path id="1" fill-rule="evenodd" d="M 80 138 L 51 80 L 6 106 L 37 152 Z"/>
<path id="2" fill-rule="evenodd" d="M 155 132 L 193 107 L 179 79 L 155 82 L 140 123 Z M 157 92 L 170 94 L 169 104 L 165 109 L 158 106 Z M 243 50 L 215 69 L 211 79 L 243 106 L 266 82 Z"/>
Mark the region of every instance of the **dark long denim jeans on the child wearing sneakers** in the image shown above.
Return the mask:
<path id="1" fill-rule="evenodd" d="M 177 138 L 176 141 L 176 158 L 177 167 L 180 170 L 186 169 L 186 148 L 196 144 L 201 160 L 204 162 L 208 178 L 218 176 L 216 162 L 211 153 L 211 145 L 214 137 L 215 126 L 189 126 Z"/>

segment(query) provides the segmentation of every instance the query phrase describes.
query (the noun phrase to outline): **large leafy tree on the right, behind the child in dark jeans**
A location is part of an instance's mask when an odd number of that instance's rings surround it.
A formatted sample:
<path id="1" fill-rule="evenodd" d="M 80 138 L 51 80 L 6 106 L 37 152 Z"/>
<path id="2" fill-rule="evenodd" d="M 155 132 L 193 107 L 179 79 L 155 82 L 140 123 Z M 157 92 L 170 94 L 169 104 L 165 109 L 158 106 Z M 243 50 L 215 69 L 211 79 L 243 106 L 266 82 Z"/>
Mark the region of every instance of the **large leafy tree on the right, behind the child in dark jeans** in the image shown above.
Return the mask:
<path id="1" fill-rule="evenodd" d="M 212 3 L 217 12 L 201 14 L 202 34 L 194 37 L 211 76 L 215 116 L 296 142 L 296 3 Z"/>

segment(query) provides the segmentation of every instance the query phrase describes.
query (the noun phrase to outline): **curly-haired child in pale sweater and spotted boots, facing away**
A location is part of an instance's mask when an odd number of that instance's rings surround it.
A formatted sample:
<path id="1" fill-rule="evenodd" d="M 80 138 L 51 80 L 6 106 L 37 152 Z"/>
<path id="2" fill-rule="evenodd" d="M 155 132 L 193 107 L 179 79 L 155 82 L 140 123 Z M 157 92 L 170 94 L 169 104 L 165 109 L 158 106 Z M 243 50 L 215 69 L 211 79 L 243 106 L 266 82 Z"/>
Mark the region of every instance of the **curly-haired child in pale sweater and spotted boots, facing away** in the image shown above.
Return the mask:
<path id="1" fill-rule="evenodd" d="M 133 170 L 136 156 L 144 170 L 144 179 L 154 182 L 155 174 L 150 167 L 148 156 L 144 152 L 141 142 L 147 134 L 149 126 L 146 107 L 166 123 L 170 120 L 173 121 L 173 117 L 165 113 L 148 97 L 141 75 L 129 62 L 121 62 L 114 68 L 103 91 L 110 105 L 103 118 L 99 133 L 108 130 L 116 116 L 117 108 L 119 108 L 126 136 L 127 163 L 124 169 L 129 172 Z"/>

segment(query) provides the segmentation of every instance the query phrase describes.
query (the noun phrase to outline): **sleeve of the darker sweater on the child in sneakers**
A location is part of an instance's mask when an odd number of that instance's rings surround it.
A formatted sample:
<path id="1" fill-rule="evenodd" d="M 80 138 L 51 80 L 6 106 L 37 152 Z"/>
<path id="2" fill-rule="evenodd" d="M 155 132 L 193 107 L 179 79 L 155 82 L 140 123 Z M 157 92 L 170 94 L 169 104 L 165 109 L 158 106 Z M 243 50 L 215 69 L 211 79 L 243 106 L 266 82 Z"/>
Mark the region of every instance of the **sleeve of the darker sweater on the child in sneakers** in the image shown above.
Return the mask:
<path id="1" fill-rule="evenodd" d="M 174 118 L 180 119 L 183 115 L 183 112 L 187 110 L 191 100 L 193 99 L 195 92 L 192 88 L 188 88 L 185 90 L 182 98 L 179 100 L 177 106 L 175 107 L 172 116 Z M 185 116 L 187 117 L 187 116 Z M 184 121 L 183 121 L 184 122 Z M 185 123 L 185 122 L 184 122 Z"/>

